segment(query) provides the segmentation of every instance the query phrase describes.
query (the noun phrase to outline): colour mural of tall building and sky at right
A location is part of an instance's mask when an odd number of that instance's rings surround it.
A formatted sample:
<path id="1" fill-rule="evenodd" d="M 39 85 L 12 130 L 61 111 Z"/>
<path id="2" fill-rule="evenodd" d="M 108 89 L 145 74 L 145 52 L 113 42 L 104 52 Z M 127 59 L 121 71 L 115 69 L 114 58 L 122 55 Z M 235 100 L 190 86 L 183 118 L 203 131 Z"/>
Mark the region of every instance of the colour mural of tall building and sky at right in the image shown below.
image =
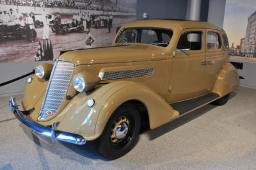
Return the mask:
<path id="1" fill-rule="evenodd" d="M 256 62 L 256 1 L 227 0 L 223 28 L 231 59 Z"/>

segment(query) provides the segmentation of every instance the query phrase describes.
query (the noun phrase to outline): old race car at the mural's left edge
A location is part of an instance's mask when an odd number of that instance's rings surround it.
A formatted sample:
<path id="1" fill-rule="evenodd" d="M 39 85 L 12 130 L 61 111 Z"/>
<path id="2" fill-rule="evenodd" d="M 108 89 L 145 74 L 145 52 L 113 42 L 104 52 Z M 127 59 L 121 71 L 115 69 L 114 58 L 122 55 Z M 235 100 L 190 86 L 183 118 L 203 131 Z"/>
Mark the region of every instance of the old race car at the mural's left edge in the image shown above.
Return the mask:
<path id="1" fill-rule="evenodd" d="M 22 27 L 18 24 L 3 25 L 0 23 L 0 42 L 9 36 L 20 38 L 22 35 L 26 35 L 28 41 L 31 42 L 36 38 L 36 31 L 35 29 L 29 29 L 28 25 Z"/>

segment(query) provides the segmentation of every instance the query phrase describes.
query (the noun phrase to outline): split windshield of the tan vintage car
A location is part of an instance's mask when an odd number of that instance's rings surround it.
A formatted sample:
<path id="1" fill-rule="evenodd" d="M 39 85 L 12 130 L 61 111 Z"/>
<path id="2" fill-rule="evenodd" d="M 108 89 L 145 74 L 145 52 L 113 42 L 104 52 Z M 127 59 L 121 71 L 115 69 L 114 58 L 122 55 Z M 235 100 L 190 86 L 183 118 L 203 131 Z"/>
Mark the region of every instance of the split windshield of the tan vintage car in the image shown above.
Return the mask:
<path id="1" fill-rule="evenodd" d="M 167 47 L 172 38 L 172 30 L 160 28 L 122 29 L 116 43 L 147 43 Z"/>

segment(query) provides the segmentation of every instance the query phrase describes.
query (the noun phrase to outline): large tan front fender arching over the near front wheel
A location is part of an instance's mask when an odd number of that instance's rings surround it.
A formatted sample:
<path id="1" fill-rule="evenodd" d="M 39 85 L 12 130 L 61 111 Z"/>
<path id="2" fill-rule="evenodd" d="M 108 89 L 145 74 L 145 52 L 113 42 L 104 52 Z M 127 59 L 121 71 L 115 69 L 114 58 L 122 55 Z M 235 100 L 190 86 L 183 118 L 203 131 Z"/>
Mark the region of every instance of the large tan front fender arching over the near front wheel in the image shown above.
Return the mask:
<path id="1" fill-rule="evenodd" d="M 89 99 L 95 100 L 93 107 L 88 107 Z M 162 97 L 147 86 L 138 82 L 116 81 L 89 95 L 79 93 L 61 112 L 66 115 L 57 128 L 82 135 L 87 141 L 97 139 L 115 109 L 129 100 L 138 100 L 145 105 L 150 128 L 159 127 L 179 116 Z"/>

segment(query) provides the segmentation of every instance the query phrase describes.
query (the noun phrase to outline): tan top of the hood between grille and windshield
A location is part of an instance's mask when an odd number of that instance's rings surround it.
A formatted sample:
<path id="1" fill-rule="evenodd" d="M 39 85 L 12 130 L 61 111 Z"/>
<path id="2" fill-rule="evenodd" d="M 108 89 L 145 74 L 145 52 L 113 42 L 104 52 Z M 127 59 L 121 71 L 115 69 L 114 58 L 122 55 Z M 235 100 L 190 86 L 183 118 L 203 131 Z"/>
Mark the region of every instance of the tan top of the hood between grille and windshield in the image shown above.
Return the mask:
<path id="1" fill-rule="evenodd" d="M 64 52 L 60 60 L 77 65 L 93 65 L 100 63 L 126 63 L 138 61 L 163 60 L 170 56 L 170 49 L 147 44 L 131 44 L 93 49 L 71 50 Z"/>

